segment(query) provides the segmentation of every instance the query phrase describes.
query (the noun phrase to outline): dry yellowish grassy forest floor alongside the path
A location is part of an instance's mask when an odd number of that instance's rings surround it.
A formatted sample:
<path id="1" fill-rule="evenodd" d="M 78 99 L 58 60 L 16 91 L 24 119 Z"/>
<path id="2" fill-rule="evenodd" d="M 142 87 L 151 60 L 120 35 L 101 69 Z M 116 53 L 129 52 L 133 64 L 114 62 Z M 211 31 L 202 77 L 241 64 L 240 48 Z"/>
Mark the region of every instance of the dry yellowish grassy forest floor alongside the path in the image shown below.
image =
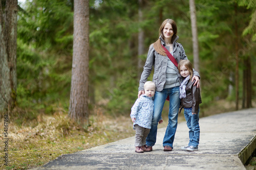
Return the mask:
<path id="1" fill-rule="evenodd" d="M 168 106 L 165 106 L 162 114 L 164 122 L 159 128 L 168 124 L 167 109 Z M 207 113 L 202 109 L 201 115 L 209 116 L 233 110 L 233 103 L 218 101 L 207 108 Z M 9 118 L 12 120 L 15 117 Z M 184 116 L 179 114 L 178 122 L 182 121 L 185 121 Z M 13 122 L 8 124 L 8 165 L 4 164 L 4 157 L 1 156 L 0 169 L 42 166 L 62 154 L 86 150 L 135 135 L 130 113 L 110 116 L 104 115 L 100 108 L 96 108 L 94 114 L 90 115 L 88 128 L 72 123 L 68 113 L 61 108 L 53 115 L 39 114 L 35 120 L 24 121 L 22 125 Z M 4 127 L 3 119 L 0 126 Z M 3 133 L 0 138 L 2 141 L 5 138 Z M 256 169 L 256 157 L 252 158 L 247 167 Z"/>

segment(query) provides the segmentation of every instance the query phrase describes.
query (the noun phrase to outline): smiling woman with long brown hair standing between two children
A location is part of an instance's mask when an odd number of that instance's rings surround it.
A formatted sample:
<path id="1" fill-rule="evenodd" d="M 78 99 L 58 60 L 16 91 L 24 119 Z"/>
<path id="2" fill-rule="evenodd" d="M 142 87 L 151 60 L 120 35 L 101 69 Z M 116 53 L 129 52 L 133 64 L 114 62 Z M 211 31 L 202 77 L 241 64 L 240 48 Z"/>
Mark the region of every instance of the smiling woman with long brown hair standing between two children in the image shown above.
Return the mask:
<path id="1" fill-rule="evenodd" d="M 153 82 L 156 84 L 156 93 L 154 99 L 154 114 L 152 119 L 152 127 L 146 138 L 146 150 L 152 151 L 152 147 L 156 143 L 157 126 L 161 120 L 161 114 L 164 103 L 169 98 L 168 126 L 163 138 L 164 151 L 172 151 L 174 137 L 178 124 L 178 112 L 180 106 L 179 86 L 182 77 L 179 74 L 177 66 L 166 56 L 163 46 L 171 53 L 177 62 L 187 60 L 183 46 L 176 42 L 178 40 L 177 25 L 172 19 L 165 19 L 159 29 L 159 39 L 151 44 L 148 50 L 147 59 L 143 67 L 140 78 L 138 98 L 144 94 L 144 83 L 154 66 Z M 163 46 L 162 46 L 163 45 Z M 199 74 L 194 70 L 193 80 L 195 85 L 199 87 Z"/>

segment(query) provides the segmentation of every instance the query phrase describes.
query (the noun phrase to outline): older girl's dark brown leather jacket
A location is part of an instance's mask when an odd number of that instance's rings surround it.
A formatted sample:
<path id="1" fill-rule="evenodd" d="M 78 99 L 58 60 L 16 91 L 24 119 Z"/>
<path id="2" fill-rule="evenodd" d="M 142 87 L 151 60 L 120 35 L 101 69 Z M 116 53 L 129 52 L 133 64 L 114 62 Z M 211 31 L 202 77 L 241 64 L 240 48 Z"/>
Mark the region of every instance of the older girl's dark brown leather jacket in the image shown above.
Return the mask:
<path id="1" fill-rule="evenodd" d="M 193 82 L 189 81 L 186 86 L 186 98 L 181 100 L 182 108 L 192 108 L 192 113 L 198 113 L 199 104 L 202 103 L 200 88 L 194 86 L 195 80 Z"/>

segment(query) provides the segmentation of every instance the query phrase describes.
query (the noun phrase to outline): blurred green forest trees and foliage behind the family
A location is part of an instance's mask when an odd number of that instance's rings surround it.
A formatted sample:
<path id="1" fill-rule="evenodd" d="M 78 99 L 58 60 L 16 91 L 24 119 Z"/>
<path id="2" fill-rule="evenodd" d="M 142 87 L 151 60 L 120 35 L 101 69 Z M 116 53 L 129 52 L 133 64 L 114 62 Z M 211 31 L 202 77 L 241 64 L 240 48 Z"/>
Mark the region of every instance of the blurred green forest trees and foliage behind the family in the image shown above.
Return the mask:
<path id="1" fill-rule="evenodd" d="M 252 19 L 256 20 L 253 14 L 256 5 L 251 1 L 249 6 L 248 2 L 196 1 L 202 108 L 217 100 L 236 99 L 236 54 L 239 55 L 240 108 L 252 106 L 246 97 L 251 94 L 249 98 L 254 99 L 255 77 L 250 72 L 253 74 L 256 69 L 253 67 L 255 25 L 246 33 L 244 31 Z M 34 0 L 27 1 L 23 7 L 18 12 L 17 29 L 18 106 L 42 109 L 45 114 L 52 114 L 56 105 L 67 109 L 72 67 L 73 2 Z M 139 76 L 148 47 L 157 40 L 160 24 L 166 18 L 177 22 L 178 42 L 193 62 L 188 1 L 143 1 L 141 21 L 138 20 L 138 8 L 136 0 L 90 1 L 91 109 L 96 106 L 111 114 L 129 115 L 137 98 Z M 138 56 L 139 29 L 144 31 L 144 53 Z M 139 59 L 142 64 L 138 66 Z M 250 89 L 249 93 L 246 89 Z M 250 102 L 247 106 L 246 101 Z"/>

